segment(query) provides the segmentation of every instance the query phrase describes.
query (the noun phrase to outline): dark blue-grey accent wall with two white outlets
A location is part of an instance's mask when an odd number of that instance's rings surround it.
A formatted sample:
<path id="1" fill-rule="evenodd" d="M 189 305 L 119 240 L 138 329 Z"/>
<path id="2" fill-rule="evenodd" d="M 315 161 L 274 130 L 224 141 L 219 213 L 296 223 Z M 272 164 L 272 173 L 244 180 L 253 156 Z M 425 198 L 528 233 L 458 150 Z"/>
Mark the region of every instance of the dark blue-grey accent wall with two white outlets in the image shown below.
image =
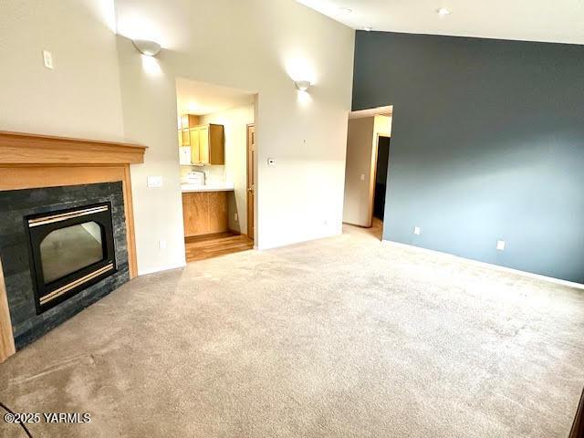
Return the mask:
<path id="1" fill-rule="evenodd" d="M 390 104 L 384 239 L 584 283 L 584 46 L 358 31 Z"/>

